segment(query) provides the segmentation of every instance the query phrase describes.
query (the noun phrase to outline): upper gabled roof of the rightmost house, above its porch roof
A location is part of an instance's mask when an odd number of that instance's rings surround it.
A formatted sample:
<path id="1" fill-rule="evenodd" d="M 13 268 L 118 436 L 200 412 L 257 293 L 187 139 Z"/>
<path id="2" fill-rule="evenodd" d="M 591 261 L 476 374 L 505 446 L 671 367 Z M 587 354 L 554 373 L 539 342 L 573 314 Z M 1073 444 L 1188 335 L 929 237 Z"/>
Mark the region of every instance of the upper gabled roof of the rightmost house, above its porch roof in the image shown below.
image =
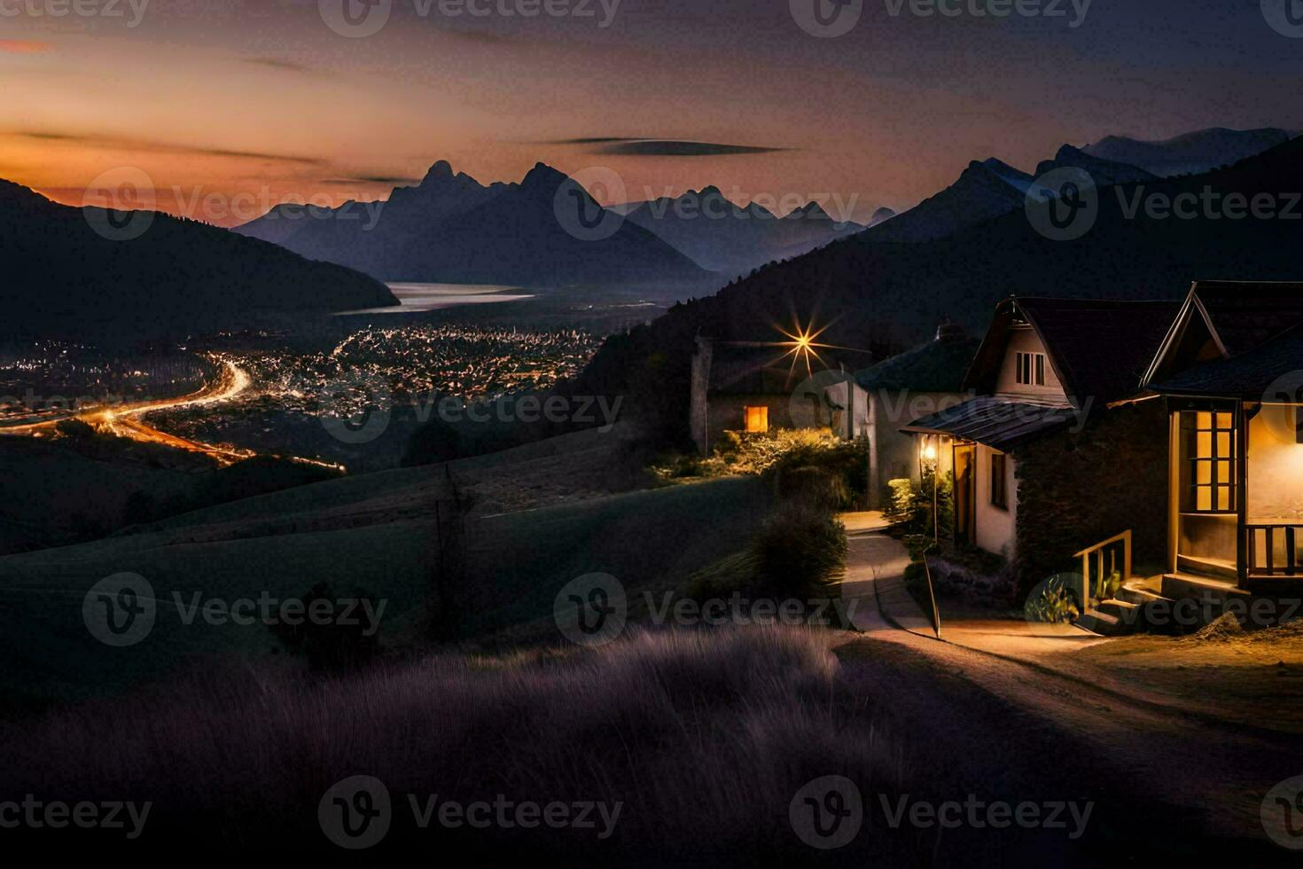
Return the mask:
<path id="1" fill-rule="evenodd" d="M 1197 362 L 1231 360 L 1303 323 L 1303 283 L 1200 280 L 1144 374 L 1165 382 Z"/>

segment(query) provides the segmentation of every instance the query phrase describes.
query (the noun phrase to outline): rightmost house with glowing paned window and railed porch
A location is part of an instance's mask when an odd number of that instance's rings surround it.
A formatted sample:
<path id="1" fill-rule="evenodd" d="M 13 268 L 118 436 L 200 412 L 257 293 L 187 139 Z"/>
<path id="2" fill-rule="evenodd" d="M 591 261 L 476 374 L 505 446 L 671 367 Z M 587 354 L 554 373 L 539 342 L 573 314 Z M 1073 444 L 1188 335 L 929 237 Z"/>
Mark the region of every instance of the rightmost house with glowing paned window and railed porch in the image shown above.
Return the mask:
<path id="1" fill-rule="evenodd" d="M 1303 585 L 1303 283 L 1194 284 L 1141 386 L 1166 414 L 1164 597 Z"/>

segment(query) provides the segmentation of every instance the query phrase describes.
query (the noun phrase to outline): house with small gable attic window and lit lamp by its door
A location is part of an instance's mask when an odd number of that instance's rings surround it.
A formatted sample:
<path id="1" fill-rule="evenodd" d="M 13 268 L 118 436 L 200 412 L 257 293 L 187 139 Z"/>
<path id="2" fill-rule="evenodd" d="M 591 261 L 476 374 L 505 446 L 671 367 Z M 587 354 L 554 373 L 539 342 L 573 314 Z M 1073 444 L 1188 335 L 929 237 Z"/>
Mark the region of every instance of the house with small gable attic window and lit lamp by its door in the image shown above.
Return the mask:
<path id="1" fill-rule="evenodd" d="M 973 397 L 903 426 L 951 474 L 956 543 L 1005 556 L 1011 595 L 1126 530 L 1135 558 L 1161 560 L 1165 414 L 1124 400 L 1175 313 L 1174 302 L 1005 300 L 964 377 Z"/>

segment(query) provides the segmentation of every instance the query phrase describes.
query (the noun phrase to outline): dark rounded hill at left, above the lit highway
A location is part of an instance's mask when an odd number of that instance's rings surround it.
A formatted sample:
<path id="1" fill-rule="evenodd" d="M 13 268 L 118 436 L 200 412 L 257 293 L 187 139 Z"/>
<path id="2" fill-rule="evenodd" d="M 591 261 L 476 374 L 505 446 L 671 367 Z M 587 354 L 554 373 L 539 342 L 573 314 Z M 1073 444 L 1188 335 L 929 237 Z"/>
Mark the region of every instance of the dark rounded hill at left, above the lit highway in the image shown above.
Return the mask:
<path id="1" fill-rule="evenodd" d="M 113 240 L 93 221 L 145 228 Z M 73 208 L 3 180 L 0 274 L 0 330 L 9 334 L 113 328 L 142 336 L 259 311 L 397 304 L 366 275 L 225 229 L 164 214 Z"/>

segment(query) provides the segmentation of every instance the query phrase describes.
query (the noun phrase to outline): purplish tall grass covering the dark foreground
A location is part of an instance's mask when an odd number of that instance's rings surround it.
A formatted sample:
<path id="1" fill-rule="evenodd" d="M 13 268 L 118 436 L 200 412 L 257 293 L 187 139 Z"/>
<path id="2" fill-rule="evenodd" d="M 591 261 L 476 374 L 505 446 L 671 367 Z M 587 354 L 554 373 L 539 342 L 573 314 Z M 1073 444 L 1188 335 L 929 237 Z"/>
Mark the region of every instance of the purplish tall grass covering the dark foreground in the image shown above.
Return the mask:
<path id="1" fill-rule="evenodd" d="M 396 819 L 369 853 L 456 840 L 542 865 L 563 855 L 572 865 L 826 864 L 792 834 L 792 796 L 830 774 L 895 792 L 902 754 L 877 698 L 842 679 L 829 636 L 637 633 L 597 650 L 440 655 L 326 681 L 288 667 L 208 671 L 5 726 L 0 783 L 47 800 L 151 800 L 146 846 L 330 849 L 321 796 L 374 775 Z M 576 830 L 417 831 L 408 793 L 624 809 L 605 843 Z M 848 861 L 904 847 L 863 839 Z"/>

